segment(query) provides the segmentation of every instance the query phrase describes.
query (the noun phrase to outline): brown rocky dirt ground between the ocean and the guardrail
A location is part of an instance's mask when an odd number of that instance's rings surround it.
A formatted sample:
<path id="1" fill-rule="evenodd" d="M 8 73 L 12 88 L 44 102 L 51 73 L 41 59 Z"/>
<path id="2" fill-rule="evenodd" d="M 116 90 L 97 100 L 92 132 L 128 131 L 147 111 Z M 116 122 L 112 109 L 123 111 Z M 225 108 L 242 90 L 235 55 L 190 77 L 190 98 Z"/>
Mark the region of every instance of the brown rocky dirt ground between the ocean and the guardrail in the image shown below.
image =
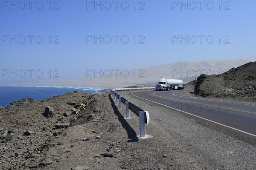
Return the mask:
<path id="1" fill-rule="evenodd" d="M 125 121 L 109 92 L 69 92 L 0 107 L 1 170 L 169 170 L 210 168 L 179 139 L 138 140 L 139 118 Z M 210 168 L 211 169 L 211 168 Z"/>

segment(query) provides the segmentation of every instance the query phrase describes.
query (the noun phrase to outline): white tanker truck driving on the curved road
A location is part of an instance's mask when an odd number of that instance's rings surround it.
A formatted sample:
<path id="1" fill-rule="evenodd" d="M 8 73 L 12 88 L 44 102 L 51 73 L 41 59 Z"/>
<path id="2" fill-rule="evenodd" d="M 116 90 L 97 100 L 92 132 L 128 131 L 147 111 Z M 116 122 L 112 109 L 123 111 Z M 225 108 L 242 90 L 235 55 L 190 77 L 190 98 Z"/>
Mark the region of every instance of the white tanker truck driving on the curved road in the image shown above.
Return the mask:
<path id="1" fill-rule="evenodd" d="M 168 78 L 161 78 L 160 81 L 156 83 L 155 89 L 156 90 L 172 90 L 178 89 L 183 90 L 183 81 L 177 79 L 168 79 Z"/>

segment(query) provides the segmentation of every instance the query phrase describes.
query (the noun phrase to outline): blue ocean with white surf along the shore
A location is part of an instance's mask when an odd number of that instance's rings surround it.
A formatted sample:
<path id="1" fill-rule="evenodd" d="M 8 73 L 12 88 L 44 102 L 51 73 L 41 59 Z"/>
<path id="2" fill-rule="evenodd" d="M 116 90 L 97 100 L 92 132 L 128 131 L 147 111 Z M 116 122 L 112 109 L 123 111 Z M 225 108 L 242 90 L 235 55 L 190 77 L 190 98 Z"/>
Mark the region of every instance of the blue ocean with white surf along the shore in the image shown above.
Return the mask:
<path id="1" fill-rule="evenodd" d="M 76 86 L 0 86 L 0 107 L 6 107 L 15 100 L 33 98 L 42 100 L 54 95 L 63 95 L 72 91 L 96 93 L 101 88 Z"/>

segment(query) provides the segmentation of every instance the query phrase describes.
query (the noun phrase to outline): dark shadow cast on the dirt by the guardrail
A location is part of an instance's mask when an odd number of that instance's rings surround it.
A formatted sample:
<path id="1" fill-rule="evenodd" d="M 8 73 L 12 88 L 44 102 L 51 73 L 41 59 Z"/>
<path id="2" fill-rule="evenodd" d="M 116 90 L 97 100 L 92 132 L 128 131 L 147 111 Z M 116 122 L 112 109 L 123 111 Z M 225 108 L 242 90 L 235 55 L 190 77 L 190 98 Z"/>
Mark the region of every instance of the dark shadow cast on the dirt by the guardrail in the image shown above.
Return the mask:
<path id="1" fill-rule="evenodd" d="M 124 116 L 121 115 L 118 108 L 116 107 L 113 99 L 111 98 L 111 94 L 108 95 L 109 100 L 111 101 L 111 106 L 114 109 L 115 115 L 118 117 L 119 122 L 122 124 L 122 127 L 125 128 L 127 132 L 127 136 L 129 140 L 127 142 L 137 142 L 139 141 L 136 132 L 134 129 L 128 124 L 128 122 L 124 119 Z M 119 106 L 119 105 L 118 105 Z"/>

